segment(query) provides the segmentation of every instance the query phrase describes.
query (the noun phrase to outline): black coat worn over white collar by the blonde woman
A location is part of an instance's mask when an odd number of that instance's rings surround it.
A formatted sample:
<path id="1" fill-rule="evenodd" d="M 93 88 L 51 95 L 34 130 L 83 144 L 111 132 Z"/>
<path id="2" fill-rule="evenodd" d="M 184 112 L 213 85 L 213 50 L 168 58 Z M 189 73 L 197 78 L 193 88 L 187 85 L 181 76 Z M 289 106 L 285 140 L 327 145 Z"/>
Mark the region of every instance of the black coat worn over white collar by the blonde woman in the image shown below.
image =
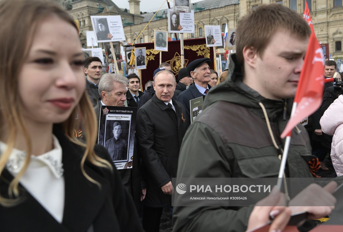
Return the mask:
<path id="1" fill-rule="evenodd" d="M 19 184 L 23 201 L 13 207 L 0 205 L 1 231 L 143 231 L 137 211 L 121 184 L 115 166 L 113 165 L 111 172 L 85 161 L 85 172 L 101 185 L 99 188 L 88 181 L 81 172 L 80 163 L 84 149 L 72 143 L 56 127 L 54 134 L 62 147 L 64 169 L 65 200 L 62 223 L 57 222 Z M 104 147 L 96 145 L 94 150 L 98 156 L 111 163 Z M 8 183 L 12 179 L 13 176 L 7 170 L 2 172 L 2 196 L 7 196 Z"/>

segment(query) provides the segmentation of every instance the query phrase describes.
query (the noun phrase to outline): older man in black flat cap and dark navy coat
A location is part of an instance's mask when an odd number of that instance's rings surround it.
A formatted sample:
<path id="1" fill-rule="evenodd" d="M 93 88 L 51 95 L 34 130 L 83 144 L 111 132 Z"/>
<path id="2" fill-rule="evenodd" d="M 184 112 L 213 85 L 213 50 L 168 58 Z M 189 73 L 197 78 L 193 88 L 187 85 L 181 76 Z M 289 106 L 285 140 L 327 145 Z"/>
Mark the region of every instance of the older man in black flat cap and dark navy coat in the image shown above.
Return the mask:
<path id="1" fill-rule="evenodd" d="M 185 106 L 187 127 L 191 123 L 189 101 L 201 96 L 205 97 L 205 95 L 211 88 L 211 86 L 208 85 L 208 83 L 211 80 L 210 65 L 211 59 L 202 58 L 193 60 L 187 66 L 187 71 L 193 78 L 194 83 L 189 85 L 189 88 L 184 92 L 180 93 L 177 97 L 177 101 Z"/>

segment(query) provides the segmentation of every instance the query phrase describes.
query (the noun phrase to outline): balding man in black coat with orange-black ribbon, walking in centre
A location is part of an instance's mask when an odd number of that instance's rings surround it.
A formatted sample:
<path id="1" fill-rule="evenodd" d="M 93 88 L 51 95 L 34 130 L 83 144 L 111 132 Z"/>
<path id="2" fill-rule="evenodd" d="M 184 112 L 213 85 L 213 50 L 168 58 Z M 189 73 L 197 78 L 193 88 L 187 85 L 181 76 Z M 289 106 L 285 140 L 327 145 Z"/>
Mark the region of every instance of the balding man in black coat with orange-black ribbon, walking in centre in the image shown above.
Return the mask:
<path id="1" fill-rule="evenodd" d="M 179 149 L 186 131 L 184 107 L 172 99 L 175 76 L 165 70 L 155 75 L 155 95 L 137 113 L 136 136 L 146 182 L 143 204 L 143 228 L 159 231 L 163 207 L 171 206 Z"/>

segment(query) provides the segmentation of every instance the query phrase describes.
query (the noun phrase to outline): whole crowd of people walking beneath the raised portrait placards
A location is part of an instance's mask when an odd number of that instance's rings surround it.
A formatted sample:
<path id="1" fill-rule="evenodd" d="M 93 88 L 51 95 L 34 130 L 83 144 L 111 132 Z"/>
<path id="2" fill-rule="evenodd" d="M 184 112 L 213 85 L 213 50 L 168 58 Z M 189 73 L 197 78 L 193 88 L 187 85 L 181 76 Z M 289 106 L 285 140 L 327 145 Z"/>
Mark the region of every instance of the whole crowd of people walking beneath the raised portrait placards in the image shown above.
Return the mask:
<path id="1" fill-rule="evenodd" d="M 335 82 L 326 84 L 308 133 L 293 130 L 284 172 L 312 184 L 295 195 L 274 187 L 249 207 L 171 207 L 173 177 L 277 177 L 280 134 L 311 33 L 295 11 L 261 5 L 239 20 L 237 52 L 219 77 L 209 58 L 181 68 L 178 82 L 162 63 L 145 93 L 136 74 L 103 74 L 99 58 L 84 60 L 74 20 L 54 3 L 0 0 L 0 20 L 7 22 L 0 27 L 1 231 L 157 232 L 165 207 L 173 231 L 244 232 L 273 219 L 268 231 L 279 232 L 302 211 L 307 220 L 299 230 L 309 231 L 313 219 L 334 210 L 332 193 L 343 175 L 343 97 L 330 60 L 324 75 Z M 191 124 L 197 97 L 203 111 Z M 102 105 L 137 107 L 132 169 L 113 163 L 127 149 L 120 123 L 104 147 L 96 144 Z M 73 134 L 77 114 L 82 138 Z M 318 158 L 326 170 L 326 157 L 338 177 L 318 185 L 309 161 Z"/>

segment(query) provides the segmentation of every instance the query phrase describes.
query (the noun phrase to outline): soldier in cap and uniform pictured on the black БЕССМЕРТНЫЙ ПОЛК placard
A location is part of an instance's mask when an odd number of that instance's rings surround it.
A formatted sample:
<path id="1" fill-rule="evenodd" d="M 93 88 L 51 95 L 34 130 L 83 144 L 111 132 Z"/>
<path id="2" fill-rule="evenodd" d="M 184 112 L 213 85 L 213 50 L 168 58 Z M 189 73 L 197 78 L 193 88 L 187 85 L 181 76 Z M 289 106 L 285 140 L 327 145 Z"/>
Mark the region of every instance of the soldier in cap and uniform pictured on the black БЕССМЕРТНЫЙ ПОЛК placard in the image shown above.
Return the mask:
<path id="1" fill-rule="evenodd" d="M 112 132 L 113 137 L 105 142 L 105 148 L 113 161 L 127 160 L 128 143 L 125 139 L 120 138 L 122 127 L 118 121 L 113 124 Z"/>

